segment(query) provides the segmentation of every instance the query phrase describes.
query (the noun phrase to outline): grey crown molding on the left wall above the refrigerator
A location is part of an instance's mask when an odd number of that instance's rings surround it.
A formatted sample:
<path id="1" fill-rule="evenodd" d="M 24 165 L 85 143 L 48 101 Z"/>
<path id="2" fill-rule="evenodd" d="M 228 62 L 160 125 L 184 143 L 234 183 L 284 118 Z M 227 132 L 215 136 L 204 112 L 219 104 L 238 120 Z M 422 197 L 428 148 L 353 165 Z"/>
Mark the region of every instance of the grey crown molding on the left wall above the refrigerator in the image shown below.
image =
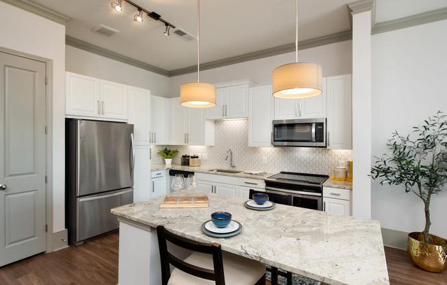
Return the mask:
<path id="1" fill-rule="evenodd" d="M 129 58 L 119 53 L 109 51 L 108 49 L 103 49 L 102 47 L 98 47 L 97 45 L 92 45 L 88 42 L 84 42 L 84 40 L 78 40 L 77 38 L 72 38 L 71 36 L 65 36 L 65 45 L 69 45 L 70 47 L 75 47 L 77 49 L 83 49 L 84 51 L 104 56 L 104 58 L 117 60 L 119 62 L 138 67 L 139 69 L 144 69 L 146 71 L 151 71 L 153 73 L 169 77 L 169 71 L 166 71 L 165 69 L 160 69 L 145 62 L 134 60 L 133 58 Z"/>

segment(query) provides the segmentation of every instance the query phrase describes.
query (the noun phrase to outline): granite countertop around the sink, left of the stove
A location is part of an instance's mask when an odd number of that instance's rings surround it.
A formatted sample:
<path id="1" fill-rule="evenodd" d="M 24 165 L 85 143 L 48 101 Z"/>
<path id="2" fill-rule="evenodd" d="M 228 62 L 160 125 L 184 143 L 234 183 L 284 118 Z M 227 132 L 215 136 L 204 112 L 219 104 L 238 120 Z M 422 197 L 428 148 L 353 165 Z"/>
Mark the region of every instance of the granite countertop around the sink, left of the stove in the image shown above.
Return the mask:
<path id="1" fill-rule="evenodd" d="M 240 173 L 222 173 L 222 172 L 214 172 L 210 171 L 210 169 L 226 169 L 224 167 L 213 167 L 213 166 L 182 166 L 180 164 L 171 164 L 171 166 L 167 166 L 166 164 L 152 164 L 151 170 L 157 171 L 162 169 L 176 169 L 176 170 L 184 170 L 184 171 L 193 171 L 193 172 L 200 172 L 200 173 L 208 173 L 208 174 L 214 174 L 214 175 L 224 175 L 224 176 L 232 176 L 232 177 L 241 177 L 241 178 L 250 178 L 250 179 L 265 179 L 265 177 L 269 177 L 271 175 L 274 175 L 274 173 L 265 173 L 263 175 L 257 175 L 257 174 L 247 174 L 245 172 L 249 172 L 247 170 L 243 169 L 232 169 L 234 171 L 241 171 Z M 228 169 L 230 170 L 230 169 Z"/>

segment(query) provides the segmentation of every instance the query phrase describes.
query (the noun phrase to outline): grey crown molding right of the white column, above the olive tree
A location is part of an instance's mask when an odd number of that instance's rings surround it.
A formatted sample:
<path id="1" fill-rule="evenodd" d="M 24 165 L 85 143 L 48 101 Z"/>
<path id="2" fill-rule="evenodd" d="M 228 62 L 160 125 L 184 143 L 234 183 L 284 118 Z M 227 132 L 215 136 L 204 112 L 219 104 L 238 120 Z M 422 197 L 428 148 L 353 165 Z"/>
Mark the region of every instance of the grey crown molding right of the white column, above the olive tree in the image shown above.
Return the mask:
<path id="1" fill-rule="evenodd" d="M 385 32 L 391 32 L 396 29 L 404 29 L 407 27 L 414 27 L 417 25 L 423 25 L 433 23 L 436 21 L 442 21 L 447 19 L 447 8 L 428 11 L 421 14 L 407 16 L 404 18 L 398 18 L 396 20 L 386 21 L 382 23 L 374 23 L 372 26 L 371 34 L 380 34 Z"/>

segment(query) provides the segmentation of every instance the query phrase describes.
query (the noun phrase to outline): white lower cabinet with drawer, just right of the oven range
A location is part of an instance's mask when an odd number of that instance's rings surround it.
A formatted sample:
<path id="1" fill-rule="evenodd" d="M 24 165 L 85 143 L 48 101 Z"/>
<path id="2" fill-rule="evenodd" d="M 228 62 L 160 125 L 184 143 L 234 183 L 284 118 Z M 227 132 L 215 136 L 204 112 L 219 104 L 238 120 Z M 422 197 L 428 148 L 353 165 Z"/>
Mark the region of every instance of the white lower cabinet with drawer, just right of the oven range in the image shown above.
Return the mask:
<path id="1" fill-rule="evenodd" d="M 323 187 L 324 212 L 350 216 L 352 213 L 352 190 Z"/>

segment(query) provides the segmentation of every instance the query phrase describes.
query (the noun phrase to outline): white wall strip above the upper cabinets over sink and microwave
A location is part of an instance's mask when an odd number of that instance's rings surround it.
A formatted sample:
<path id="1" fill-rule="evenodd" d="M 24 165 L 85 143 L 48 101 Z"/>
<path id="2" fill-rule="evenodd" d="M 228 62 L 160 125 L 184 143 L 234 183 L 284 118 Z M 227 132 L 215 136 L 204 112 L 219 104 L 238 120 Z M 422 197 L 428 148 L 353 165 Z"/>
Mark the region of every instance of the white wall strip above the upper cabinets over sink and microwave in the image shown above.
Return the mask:
<path id="1" fill-rule="evenodd" d="M 323 77 L 352 73 L 352 40 L 298 51 L 298 61 L 320 64 L 323 68 Z M 258 85 L 269 85 L 272 71 L 282 64 L 291 62 L 295 62 L 295 53 L 284 53 L 209 69 L 200 71 L 200 82 L 216 84 L 250 78 Z M 179 97 L 180 85 L 186 82 L 197 82 L 197 72 L 171 77 L 167 97 Z"/>

